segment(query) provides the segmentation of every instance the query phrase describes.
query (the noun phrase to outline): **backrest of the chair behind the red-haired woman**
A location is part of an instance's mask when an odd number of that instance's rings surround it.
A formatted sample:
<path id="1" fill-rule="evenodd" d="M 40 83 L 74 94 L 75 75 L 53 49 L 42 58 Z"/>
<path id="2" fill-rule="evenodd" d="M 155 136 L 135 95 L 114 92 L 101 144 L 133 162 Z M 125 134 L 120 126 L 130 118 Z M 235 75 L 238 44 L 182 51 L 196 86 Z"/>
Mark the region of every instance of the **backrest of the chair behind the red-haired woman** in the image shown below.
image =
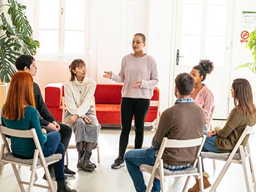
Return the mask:
<path id="1" fill-rule="evenodd" d="M 34 140 L 36 149 L 39 152 L 40 161 L 42 162 L 42 164 L 45 164 L 44 154 L 42 152 L 42 148 L 34 128 L 30 130 L 17 130 L 17 129 L 10 129 L 8 127 L 4 127 L 3 125 L 0 125 L 0 134 L 8 152 L 11 152 L 11 150 L 10 150 L 8 141 L 6 140 L 6 135 L 14 136 L 18 138 L 32 138 Z"/>

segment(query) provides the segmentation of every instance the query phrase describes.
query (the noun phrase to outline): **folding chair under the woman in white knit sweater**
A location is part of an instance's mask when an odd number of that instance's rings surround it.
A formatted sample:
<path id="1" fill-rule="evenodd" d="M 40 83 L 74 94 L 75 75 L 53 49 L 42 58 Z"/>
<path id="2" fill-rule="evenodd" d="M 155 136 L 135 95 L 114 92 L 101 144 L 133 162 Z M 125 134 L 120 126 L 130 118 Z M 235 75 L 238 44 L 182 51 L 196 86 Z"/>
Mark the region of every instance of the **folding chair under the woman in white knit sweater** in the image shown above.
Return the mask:
<path id="1" fill-rule="evenodd" d="M 95 97 L 92 99 L 93 104 L 93 113 L 96 116 L 96 104 L 95 104 Z M 61 123 L 65 124 L 65 112 L 66 112 L 66 106 L 65 106 L 65 97 L 62 97 L 62 118 Z M 68 145 L 68 148 L 76 148 L 76 145 Z M 68 164 L 68 150 L 66 151 L 66 163 Z M 99 150 L 99 142 L 97 143 L 97 161 L 100 163 L 100 150 Z"/>

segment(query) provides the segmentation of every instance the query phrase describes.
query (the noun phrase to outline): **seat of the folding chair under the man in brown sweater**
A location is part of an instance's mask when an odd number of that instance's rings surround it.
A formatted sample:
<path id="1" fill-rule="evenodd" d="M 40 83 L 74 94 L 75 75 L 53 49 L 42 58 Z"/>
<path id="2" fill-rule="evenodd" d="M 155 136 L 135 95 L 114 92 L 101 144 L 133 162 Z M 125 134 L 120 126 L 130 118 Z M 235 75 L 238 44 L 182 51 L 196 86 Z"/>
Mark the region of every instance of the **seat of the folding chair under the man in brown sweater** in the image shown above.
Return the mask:
<path id="1" fill-rule="evenodd" d="M 149 164 L 141 164 L 140 166 L 140 170 L 142 172 L 148 172 L 151 173 L 153 170 L 153 165 L 149 165 Z M 190 166 L 189 168 L 186 168 L 184 170 L 178 170 L 178 171 L 171 171 L 171 170 L 167 170 L 164 169 L 164 176 L 167 175 L 186 175 L 186 174 L 192 174 L 192 173 L 198 173 L 197 168 Z M 157 170 L 157 175 L 159 175 L 159 170 Z"/>

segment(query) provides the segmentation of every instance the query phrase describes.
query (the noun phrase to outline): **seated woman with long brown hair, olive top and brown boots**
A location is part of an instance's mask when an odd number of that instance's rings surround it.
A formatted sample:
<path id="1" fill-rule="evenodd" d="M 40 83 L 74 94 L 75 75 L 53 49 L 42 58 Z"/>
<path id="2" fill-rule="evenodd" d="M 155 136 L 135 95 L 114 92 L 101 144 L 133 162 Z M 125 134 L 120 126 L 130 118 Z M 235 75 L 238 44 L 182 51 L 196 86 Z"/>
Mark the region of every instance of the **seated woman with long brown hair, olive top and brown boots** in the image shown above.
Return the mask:
<path id="1" fill-rule="evenodd" d="M 246 79 L 235 79 L 231 88 L 232 97 L 234 97 L 235 108 L 228 115 L 225 126 L 221 129 L 216 127 L 214 131 L 209 132 L 210 137 L 206 138 L 202 151 L 204 152 L 232 152 L 237 141 L 242 135 L 247 125 L 253 126 L 256 123 L 256 109 L 253 104 L 252 88 Z M 245 138 L 243 145 L 246 145 L 248 138 Z M 204 164 L 203 164 L 204 172 Z M 211 184 L 204 172 L 204 188 L 209 188 Z M 199 181 L 189 192 L 200 191 Z"/>

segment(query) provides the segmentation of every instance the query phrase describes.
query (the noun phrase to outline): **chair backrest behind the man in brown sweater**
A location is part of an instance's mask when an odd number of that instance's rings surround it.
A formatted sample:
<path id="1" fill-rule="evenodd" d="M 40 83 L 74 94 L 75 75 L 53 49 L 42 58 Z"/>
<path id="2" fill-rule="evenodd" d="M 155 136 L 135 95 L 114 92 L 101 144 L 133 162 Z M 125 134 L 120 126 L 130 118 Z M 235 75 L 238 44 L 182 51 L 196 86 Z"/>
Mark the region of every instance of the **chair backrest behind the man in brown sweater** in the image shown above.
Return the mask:
<path id="1" fill-rule="evenodd" d="M 196 138 L 193 140 L 168 140 L 168 138 L 163 138 L 161 147 L 159 148 L 159 152 L 156 157 L 156 162 L 162 158 L 164 148 L 188 148 L 188 147 L 196 147 L 200 145 L 196 153 L 196 157 L 198 157 L 200 156 L 201 150 L 204 146 L 204 141 L 205 141 L 205 136 L 202 136 L 202 138 Z M 195 159 L 193 166 L 195 166 L 196 163 L 197 163 L 197 158 Z"/>

